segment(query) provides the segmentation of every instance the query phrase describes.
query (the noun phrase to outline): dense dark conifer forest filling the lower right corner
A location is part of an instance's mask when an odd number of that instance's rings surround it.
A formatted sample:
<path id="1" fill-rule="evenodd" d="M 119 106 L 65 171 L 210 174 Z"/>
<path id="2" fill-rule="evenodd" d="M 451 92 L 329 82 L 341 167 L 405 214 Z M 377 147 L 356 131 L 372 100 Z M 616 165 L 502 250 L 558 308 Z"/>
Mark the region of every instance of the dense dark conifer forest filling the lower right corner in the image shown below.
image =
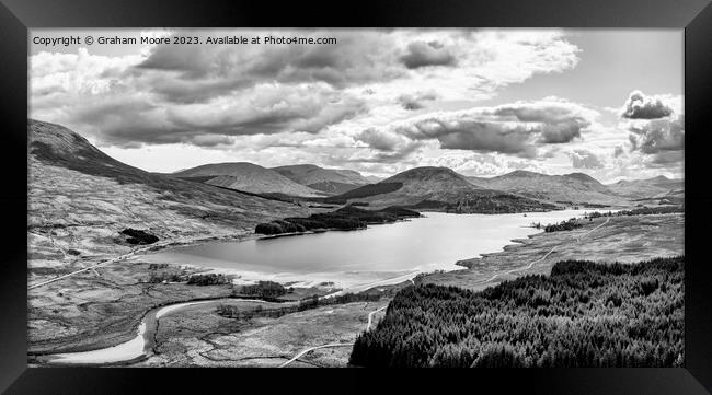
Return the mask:
<path id="1" fill-rule="evenodd" d="M 356 340 L 363 367 L 679 367 L 684 257 L 566 260 L 473 292 L 401 290 Z"/>

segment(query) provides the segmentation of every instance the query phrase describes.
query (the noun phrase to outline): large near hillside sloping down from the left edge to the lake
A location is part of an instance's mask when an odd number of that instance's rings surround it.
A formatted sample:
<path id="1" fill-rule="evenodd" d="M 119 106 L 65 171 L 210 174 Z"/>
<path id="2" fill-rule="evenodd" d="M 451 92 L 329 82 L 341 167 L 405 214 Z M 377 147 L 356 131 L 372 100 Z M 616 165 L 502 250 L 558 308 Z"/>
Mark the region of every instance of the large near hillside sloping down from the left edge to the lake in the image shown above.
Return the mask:
<path id="1" fill-rule="evenodd" d="M 127 228 L 173 240 L 251 232 L 260 222 L 307 214 L 298 205 L 129 166 L 55 124 L 28 119 L 27 151 L 31 267 L 125 253 L 130 246 L 119 232 Z"/>

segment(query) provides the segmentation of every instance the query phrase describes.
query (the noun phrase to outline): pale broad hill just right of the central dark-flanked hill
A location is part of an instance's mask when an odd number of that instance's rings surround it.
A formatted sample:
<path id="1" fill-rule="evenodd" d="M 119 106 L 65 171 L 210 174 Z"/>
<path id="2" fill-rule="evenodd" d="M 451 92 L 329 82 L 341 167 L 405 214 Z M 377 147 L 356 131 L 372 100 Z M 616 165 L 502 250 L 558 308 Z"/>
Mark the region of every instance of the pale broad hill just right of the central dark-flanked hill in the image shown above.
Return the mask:
<path id="1" fill-rule="evenodd" d="M 584 173 L 547 175 L 517 170 L 495 177 L 466 177 L 473 185 L 564 205 L 625 205 L 624 197 Z"/>

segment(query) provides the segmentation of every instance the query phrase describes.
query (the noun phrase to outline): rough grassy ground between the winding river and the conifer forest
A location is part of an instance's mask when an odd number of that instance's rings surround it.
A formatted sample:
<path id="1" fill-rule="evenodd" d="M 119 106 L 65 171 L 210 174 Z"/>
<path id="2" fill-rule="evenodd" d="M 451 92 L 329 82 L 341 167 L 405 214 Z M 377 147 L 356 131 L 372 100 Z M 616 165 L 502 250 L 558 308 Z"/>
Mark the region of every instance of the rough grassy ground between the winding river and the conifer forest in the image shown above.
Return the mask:
<path id="1" fill-rule="evenodd" d="M 278 367 L 309 347 L 353 342 L 366 328 L 368 314 L 388 301 L 328 305 L 277 318 L 250 320 L 226 318 L 215 309 L 196 306 L 162 317 L 156 355 L 137 365 Z M 240 307 L 249 309 L 244 304 Z M 375 321 L 380 316 L 382 312 L 375 314 Z M 290 367 L 345 367 L 351 349 L 319 349 Z"/>

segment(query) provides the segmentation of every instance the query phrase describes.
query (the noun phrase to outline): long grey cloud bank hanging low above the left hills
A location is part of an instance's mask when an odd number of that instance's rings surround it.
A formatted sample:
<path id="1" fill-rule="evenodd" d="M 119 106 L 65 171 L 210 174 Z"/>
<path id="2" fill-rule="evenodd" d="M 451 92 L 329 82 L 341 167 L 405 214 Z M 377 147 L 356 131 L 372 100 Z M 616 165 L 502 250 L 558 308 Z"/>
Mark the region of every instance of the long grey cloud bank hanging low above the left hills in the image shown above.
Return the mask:
<path id="1" fill-rule="evenodd" d="M 85 101 L 69 123 L 90 129 L 105 143 L 193 143 L 195 136 L 317 133 L 366 109 L 361 100 L 319 86 L 259 85 L 249 95 L 208 103 L 165 105 L 143 95 Z M 203 137 L 202 139 L 205 139 Z"/>

